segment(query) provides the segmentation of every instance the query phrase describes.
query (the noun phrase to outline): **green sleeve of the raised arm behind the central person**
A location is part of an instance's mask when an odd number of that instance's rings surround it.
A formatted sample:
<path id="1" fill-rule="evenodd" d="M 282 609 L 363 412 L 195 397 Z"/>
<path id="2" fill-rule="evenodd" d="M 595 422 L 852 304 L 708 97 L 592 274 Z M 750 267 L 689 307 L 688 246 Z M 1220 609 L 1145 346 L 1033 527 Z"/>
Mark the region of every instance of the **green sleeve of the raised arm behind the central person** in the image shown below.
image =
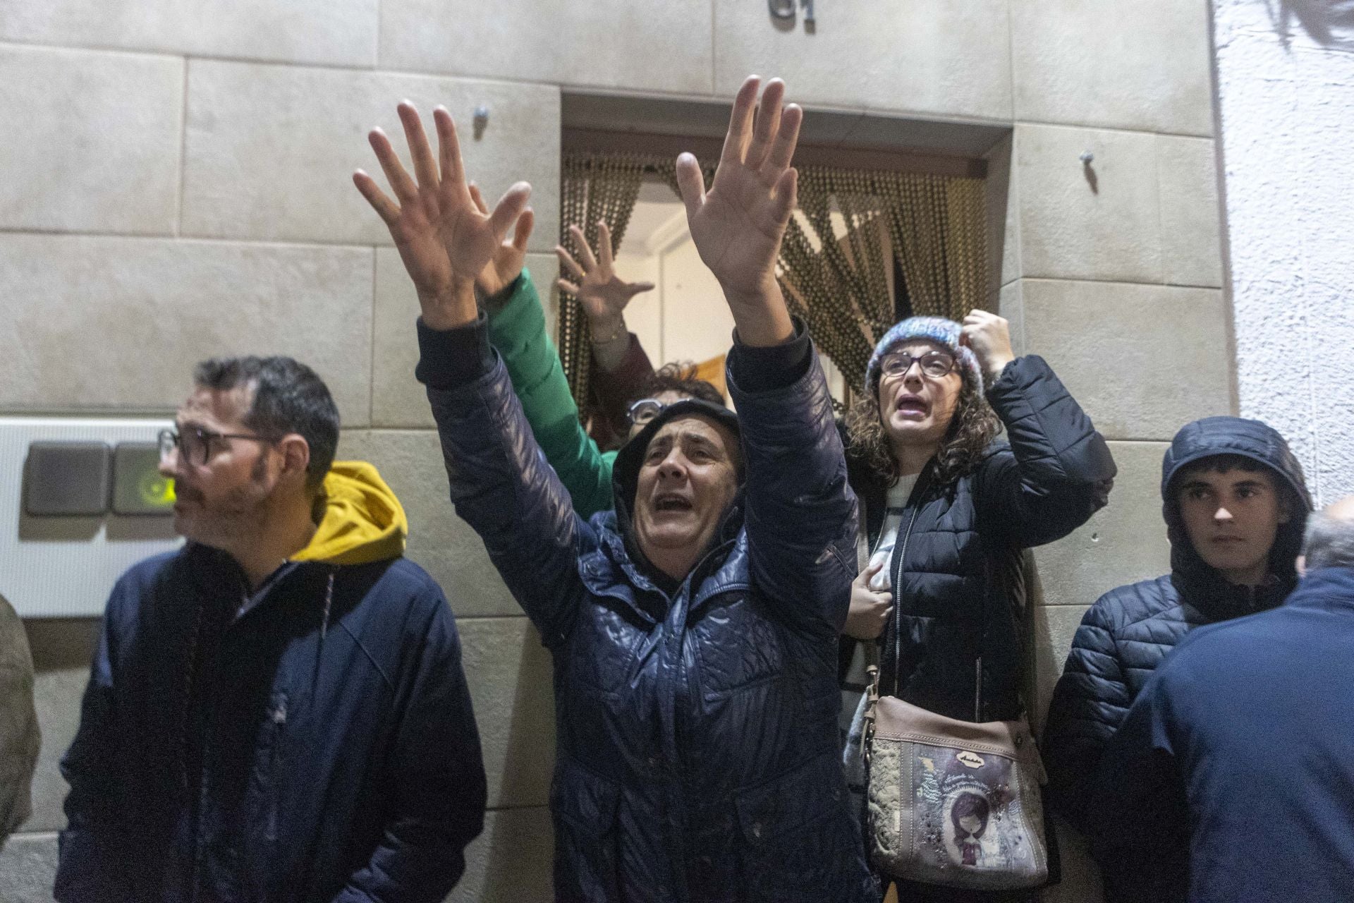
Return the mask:
<path id="1" fill-rule="evenodd" d="M 592 517 L 612 506 L 611 468 L 615 455 L 597 449 L 578 422 L 555 344 L 546 334 L 546 313 L 525 269 L 502 305 L 489 307 L 489 341 L 502 355 L 513 391 L 546 460 L 573 498 L 574 510 Z"/>

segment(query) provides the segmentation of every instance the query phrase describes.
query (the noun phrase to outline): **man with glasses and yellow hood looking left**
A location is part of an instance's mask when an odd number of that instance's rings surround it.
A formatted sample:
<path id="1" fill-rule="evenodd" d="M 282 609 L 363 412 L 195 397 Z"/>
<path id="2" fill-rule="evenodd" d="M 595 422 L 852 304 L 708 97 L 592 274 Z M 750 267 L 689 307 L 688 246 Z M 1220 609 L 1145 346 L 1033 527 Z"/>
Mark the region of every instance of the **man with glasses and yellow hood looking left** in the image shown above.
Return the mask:
<path id="1" fill-rule="evenodd" d="M 333 460 L 314 371 L 234 357 L 195 383 L 160 436 L 188 542 L 108 601 L 56 898 L 441 900 L 486 795 L 447 600 L 375 468 Z"/>

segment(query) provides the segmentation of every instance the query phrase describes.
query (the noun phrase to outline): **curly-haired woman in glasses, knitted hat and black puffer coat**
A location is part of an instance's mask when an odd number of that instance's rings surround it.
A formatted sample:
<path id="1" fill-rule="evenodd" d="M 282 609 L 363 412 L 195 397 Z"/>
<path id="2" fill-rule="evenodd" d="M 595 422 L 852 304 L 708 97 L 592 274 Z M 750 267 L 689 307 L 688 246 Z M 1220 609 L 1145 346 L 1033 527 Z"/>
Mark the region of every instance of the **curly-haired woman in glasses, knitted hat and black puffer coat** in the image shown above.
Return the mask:
<path id="1" fill-rule="evenodd" d="M 1009 444 L 994 441 L 1002 426 Z M 1022 551 L 1106 504 L 1109 445 L 1044 359 L 1016 357 L 1007 322 L 983 310 L 890 329 L 848 429 L 871 550 L 853 608 L 868 593 L 895 604 L 879 639 L 880 696 L 961 720 L 1020 718 Z M 1034 895 L 896 884 L 899 900 Z"/>

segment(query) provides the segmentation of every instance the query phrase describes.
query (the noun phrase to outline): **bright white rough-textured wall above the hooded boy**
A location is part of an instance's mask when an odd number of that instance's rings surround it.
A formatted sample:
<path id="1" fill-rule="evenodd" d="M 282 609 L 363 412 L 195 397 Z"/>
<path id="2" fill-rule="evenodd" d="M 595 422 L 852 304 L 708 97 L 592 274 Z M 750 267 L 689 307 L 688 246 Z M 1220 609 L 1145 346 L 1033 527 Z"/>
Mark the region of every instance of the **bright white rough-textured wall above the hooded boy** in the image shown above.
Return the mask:
<path id="1" fill-rule="evenodd" d="M 1213 0 L 1239 410 L 1324 502 L 1354 493 L 1354 28 L 1335 5 Z"/>

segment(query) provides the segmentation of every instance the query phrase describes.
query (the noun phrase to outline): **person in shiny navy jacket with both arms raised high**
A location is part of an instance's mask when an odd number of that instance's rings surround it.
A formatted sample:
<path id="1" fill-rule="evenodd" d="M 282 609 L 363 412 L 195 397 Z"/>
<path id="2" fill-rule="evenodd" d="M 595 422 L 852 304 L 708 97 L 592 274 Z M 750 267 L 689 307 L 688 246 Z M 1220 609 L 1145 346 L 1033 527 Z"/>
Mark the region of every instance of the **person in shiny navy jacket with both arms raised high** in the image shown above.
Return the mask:
<path id="1" fill-rule="evenodd" d="M 588 520 L 473 294 L 529 187 L 477 218 L 451 116 L 435 112 L 439 171 L 409 104 L 436 217 L 409 211 L 412 179 L 382 133 L 372 146 L 405 206 L 356 179 L 418 290 L 416 375 L 456 513 L 554 661 L 561 903 L 879 900 L 837 757 L 856 500 L 822 367 L 774 280 L 802 111 L 781 110 L 772 81 L 754 130 L 757 88 L 738 92 L 708 192 L 693 157 L 677 164 L 692 238 L 734 315 L 738 414 L 700 399 L 657 410 L 616 458 L 616 508 Z"/>

